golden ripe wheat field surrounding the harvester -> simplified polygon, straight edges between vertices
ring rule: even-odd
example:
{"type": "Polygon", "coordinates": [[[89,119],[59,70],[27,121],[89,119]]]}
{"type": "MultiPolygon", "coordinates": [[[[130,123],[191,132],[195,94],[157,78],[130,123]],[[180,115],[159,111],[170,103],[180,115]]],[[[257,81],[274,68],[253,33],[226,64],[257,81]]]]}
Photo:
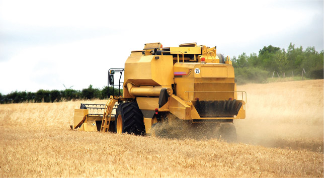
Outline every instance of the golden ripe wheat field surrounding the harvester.
{"type": "Polygon", "coordinates": [[[72,131],[79,103],[0,105],[0,177],[323,177],[323,80],[246,84],[237,143],[72,131]]]}

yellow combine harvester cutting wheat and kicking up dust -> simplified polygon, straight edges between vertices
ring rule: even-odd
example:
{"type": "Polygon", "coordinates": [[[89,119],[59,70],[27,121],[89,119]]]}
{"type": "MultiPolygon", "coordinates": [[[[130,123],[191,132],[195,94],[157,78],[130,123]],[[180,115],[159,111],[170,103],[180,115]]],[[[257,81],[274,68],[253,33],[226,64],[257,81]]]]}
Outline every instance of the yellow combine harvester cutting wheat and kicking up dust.
{"type": "Polygon", "coordinates": [[[236,92],[231,61],[217,54],[216,46],[145,44],[131,52],[124,69],[109,69],[108,77],[113,90],[123,88],[122,96],[111,96],[106,105],[82,104],[75,109],[72,129],[144,134],[173,115],[193,124],[226,125],[236,138],[233,119],[245,119],[246,93],[236,92]]]}

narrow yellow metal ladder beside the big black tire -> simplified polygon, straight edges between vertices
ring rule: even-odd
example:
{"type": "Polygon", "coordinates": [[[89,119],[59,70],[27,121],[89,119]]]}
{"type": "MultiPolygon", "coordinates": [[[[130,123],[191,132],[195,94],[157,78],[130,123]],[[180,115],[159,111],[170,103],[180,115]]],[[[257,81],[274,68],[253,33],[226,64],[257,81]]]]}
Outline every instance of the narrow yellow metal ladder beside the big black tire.
{"type": "Polygon", "coordinates": [[[117,100],[118,99],[115,99],[114,96],[110,96],[108,102],[106,103],[105,112],[101,123],[101,132],[108,132],[111,120],[111,113],[117,100]]]}

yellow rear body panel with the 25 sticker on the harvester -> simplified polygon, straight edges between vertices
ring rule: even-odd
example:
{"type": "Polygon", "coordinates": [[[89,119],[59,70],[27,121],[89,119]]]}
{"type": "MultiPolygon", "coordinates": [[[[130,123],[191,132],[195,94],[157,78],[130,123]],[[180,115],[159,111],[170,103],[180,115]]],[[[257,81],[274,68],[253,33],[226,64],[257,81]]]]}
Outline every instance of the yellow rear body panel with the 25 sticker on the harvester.
{"type": "Polygon", "coordinates": [[[183,100],[228,100],[233,93],[186,93],[187,91],[234,91],[234,70],[228,64],[176,63],[174,72],[185,75],[176,76],[177,96],[183,100]],[[196,72],[198,69],[199,72],[196,72]],[[186,71],[191,71],[187,72],[186,71]],[[193,78],[195,77],[195,78],[193,78]]]}

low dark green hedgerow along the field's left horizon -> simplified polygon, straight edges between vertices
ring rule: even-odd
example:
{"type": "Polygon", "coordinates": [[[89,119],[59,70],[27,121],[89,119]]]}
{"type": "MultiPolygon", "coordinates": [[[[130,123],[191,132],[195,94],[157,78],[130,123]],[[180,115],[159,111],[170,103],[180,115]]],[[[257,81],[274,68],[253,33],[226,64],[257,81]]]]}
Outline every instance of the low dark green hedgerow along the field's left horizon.
{"type": "MultiPolygon", "coordinates": [[[[121,91],[122,94],[122,91],[121,91]]],[[[11,92],[8,95],[2,95],[0,93],[0,104],[9,103],[53,103],[70,100],[92,100],[92,99],[107,99],[113,95],[112,86],[105,86],[100,90],[99,88],[93,88],[90,85],[88,88],[83,90],[73,90],[66,88],[63,91],[59,90],[38,90],[36,93],[33,92],[11,92]]],[[[118,89],[114,89],[114,95],[118,95],[118,89]]]]}

